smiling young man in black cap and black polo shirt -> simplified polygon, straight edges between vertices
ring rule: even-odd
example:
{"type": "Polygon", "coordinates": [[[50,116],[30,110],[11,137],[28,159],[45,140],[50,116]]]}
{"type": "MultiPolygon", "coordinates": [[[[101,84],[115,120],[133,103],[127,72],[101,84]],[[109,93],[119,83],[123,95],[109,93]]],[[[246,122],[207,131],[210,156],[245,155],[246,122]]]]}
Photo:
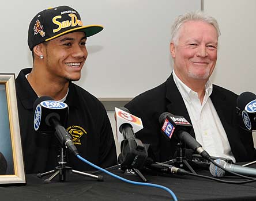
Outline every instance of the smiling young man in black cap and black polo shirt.
{"type": "MultiPolygon", "coordinates": [[[[33,68],[22,69],[16,79],[21,140],[27,173],[50,171],[58,166],[59,142],[33,129],[33,103],[50,96],[69,106],[65,125],[80,156],[106,168],[117,163],[114,137],[106,110],[95,96],[72,81],[80,79],[88,55],[86,39],[100,32],[99,25],[82,25],[80,15],[69,6],[36,14],[28,30],[33,68]]],[[[67,165],[91,169],[67,152],[67,165]]]]}

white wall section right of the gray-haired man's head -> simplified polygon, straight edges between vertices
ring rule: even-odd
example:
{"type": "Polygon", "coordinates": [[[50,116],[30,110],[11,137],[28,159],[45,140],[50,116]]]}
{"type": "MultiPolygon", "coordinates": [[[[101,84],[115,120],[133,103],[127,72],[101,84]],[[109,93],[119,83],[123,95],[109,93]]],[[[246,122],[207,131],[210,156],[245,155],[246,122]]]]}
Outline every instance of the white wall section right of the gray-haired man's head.
{"type": "Polygon", "coordinates": [[[237,94],[255,93],[256,1],[204,0],[204,11],[217,19],[221,31],[213,82],[237,94]]]}

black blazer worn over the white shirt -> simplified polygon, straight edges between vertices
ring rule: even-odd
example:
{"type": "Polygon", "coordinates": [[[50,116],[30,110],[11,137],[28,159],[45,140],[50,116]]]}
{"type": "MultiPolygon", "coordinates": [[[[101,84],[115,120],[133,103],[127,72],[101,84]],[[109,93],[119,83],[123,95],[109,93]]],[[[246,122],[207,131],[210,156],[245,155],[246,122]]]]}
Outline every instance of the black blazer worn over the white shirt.
{"type": "MultiPolygon", "coordinates": [[[[236,162],[251,161],[256,157],[251,132],[244,131],[238,126],[236,115],[236,98],[234,94],[225,88],[213,85],[210,99],[220,117],[224,130],[236,162]]],[[[170,141],[161,134],[159,117],[168,111],[174,115],[181,115],[191,123],[189,113],[180,95],[172,75],[166,82],[149,91],[146,91],[125,105],[131,114],[142,119],[144,129],[136,133],[136,136],[146,144],[150,144],[152,153],[149,153],[156,161],[167,161],[174,158],[178,141],[171,138],[170,141]]],[[[190,132],[195,137],[194,130],[190,132]]]]}

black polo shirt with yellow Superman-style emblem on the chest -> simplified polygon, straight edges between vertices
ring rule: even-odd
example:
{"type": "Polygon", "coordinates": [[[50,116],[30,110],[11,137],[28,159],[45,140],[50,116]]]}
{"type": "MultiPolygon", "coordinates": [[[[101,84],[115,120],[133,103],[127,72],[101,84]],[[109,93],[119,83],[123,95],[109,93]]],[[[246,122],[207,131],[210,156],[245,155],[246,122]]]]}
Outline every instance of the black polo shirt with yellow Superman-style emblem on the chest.
{"type": "MultiPolygon", "coordinates": [[[[33,103],[38,98],[25,75],[32,68],[22,69],[16,79],[16,93],[25,171],[42,173],[58,166],[59,142],[52,134],[33,129],[33,103]]],[[[80,156],[106,168],[117,163],[115,142],[110,121],[102,103],[92,94],[70,82],[65,103],[69,119],[65,125],[73,137],[80,156]]],[[[67,165],[78,171],[92,169],[67,150],[67,165]]]]}

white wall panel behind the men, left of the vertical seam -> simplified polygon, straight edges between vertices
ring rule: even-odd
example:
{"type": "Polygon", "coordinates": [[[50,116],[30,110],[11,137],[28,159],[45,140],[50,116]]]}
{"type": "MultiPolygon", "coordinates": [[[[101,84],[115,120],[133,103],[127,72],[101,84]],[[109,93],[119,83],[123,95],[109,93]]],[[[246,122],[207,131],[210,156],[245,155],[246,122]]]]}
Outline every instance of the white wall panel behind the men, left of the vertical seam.
{"type": "Polygon", "coordinates": [[[1,71],[17,75],[21,68],[31,66],[31,51],[27,45],[29,22],[43,9],[69,5],[80,13],[84,25],[104,26],[102,32],[86,41],[88,58],[78,84],[99,98],[131,98],[167,78],[170,25],[178,14],[199,10],[200,2],[5,1],[5,6],[0,6],[1,71]]]}

